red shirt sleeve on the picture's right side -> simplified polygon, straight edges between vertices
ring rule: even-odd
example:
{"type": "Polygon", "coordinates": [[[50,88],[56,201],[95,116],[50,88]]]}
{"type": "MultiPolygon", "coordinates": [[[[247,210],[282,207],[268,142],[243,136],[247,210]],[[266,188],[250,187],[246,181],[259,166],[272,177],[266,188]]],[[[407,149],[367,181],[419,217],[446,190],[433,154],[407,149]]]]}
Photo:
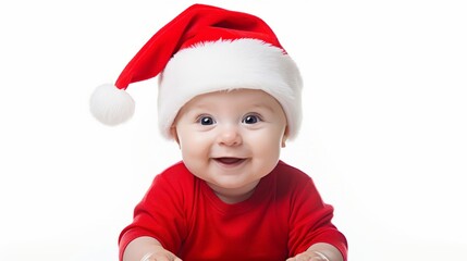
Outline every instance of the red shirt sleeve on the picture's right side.
{"type": "Polygon", "coordinates": [[[293,186],[288,240],[291,257],[306,251],[314,244],[328,243],[347,260],[346,238],[332,223],[333,207],[323,202],[310,177],[300,177],[293,186]]]}

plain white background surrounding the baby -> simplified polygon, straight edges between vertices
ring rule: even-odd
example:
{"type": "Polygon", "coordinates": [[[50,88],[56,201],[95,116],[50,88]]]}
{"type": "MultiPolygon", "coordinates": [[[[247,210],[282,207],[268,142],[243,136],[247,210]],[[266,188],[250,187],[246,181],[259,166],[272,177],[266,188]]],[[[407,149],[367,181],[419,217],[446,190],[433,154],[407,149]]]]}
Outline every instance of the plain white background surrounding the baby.
{"type": "MultiPolygon", "coordinates": [[[[302,69],[304,126],[282,159],[335,207],[349,260],[465,260],[465,1],[204,1],[259,15],[302,69]]],[[[193,1],[0,3],[0,260],[116,260],[153,175],[180,160],[156,79],[106,127],[116,79],[193,1]]],[[[208,246],[209,247],[209,246],[208,246]]]]}

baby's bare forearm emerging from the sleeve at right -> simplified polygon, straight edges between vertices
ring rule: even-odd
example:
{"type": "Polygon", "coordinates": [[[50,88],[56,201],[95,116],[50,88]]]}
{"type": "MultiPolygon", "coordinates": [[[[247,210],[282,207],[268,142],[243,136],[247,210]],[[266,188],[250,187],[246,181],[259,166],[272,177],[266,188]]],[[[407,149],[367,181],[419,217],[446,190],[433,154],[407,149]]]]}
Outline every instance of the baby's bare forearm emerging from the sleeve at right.
{"type": "Polygon", "coordinates": [[[317,243],[305,252],[287,259],[286,261],[343,261],[341,251],[327,243],[317,243]]]}

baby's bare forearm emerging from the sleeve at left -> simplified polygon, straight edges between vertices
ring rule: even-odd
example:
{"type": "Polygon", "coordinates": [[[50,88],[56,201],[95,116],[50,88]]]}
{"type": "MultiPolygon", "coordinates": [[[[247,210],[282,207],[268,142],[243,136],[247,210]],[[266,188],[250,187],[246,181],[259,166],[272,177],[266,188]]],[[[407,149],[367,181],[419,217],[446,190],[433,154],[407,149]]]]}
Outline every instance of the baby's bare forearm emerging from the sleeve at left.
{"type": "Polygon", "coordinates": [[[138,237],[126,246],[123,261],[182,261],[175,254],[165,250],[152,237],[138,237]]]}

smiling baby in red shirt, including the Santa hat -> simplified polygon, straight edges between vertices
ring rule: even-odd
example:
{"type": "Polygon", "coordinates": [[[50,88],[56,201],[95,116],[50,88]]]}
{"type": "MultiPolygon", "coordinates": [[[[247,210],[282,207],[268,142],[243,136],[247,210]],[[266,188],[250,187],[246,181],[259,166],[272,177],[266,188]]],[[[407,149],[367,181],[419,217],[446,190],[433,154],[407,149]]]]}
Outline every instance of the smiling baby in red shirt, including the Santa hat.
{"type": "Polygon", "coordinates": [[[194,4],[100,86],[91,112],[115,125],[124,91],[160,74],[159,126],[182,161],[157,175],[121,233],[120,260],[347,259],[333,208],[280,160],[302,120],[302,78],[271,28],[251,14],[194,4]]]}

